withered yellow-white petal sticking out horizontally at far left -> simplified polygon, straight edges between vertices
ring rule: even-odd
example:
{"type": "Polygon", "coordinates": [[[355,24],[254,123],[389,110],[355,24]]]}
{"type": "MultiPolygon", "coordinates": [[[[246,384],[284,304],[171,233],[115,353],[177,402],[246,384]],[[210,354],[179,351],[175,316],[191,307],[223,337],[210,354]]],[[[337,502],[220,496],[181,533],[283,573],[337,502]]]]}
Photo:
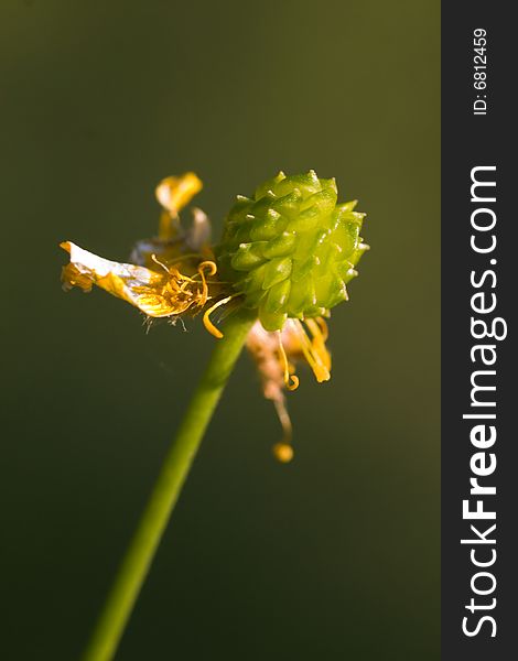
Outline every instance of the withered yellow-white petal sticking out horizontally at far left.
{"type": "MultiPolygon", "coordinates": [[[[71,241],[61,247],[71,254],[71,263],[62,273],[64,289],[79,286],[89,292],[95,284],[152,317],[182,314],[192,307],[203,307],[207,301],[204,279],[182,275],[174,267],[158,262],[161,271],[153,271],[104,259],[71,241]]],[[[201,266],[202,274],[206,264],[201,266]]]]}

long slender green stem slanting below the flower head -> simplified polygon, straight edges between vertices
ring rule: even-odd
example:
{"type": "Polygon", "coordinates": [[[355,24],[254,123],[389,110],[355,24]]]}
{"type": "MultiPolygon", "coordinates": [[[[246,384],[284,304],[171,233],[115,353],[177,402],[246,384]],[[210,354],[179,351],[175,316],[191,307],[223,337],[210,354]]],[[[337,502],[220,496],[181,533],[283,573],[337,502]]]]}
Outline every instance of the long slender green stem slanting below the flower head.
{"type": "Polygon", "coordinates": [[[112,659],[222,392],[253,317],[237,312],[225,325],[162,466],[149,502],[108,595],[83,661],[112,659]]]}

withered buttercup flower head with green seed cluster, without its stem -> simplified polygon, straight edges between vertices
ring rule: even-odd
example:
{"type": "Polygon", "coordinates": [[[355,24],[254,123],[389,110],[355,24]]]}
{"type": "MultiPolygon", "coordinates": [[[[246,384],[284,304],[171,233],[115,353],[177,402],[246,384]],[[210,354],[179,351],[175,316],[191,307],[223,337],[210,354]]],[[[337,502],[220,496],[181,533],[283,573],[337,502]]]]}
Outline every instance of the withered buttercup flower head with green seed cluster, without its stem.
{"type": "Polygon", "coordinates": [[[324,317],[347,300],[346,284],[368,249],[359,236],[365,215],[354,210],[356,202],[337,204],[334,180],[321,180],[313,171],[294,176],[281,172],[252,197],[237,197],[220,242],[212,246],[211,224],[201,209],[193,209],[187,229],[179,216],[201,188],[193,173],[159,184],[159,234],[137,242],[133,263],[97,257],[71,241],[61,243],[71,258],[63,286],[89,292],[97,285],[147,317],[173,323],[202,314],[217,338],[223,334],[212,315],[218,308],[228,314],[237,306],[257,311],[247,347],[284,432],[274,454],[289,462],[293,451],[284,390],[298,387],[300,360],[310,365],[319,382],[331,378],[324,317]]]}

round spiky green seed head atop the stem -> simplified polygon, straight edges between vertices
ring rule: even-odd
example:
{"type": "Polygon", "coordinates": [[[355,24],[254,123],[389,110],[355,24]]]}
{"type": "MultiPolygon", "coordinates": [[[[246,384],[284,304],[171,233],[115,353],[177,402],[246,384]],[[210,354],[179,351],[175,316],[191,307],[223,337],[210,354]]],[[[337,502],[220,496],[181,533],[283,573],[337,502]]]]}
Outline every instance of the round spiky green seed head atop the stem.
{"type": "Polygon", "coordinates": [[[219,272],[258,308],[267,330],[288,317],[325,315],[347,299],[346,283],[367,249],[356,202],[336,204],[336,182],[280,172],[253,197],[238,196],[218,247],[219,272]]]}

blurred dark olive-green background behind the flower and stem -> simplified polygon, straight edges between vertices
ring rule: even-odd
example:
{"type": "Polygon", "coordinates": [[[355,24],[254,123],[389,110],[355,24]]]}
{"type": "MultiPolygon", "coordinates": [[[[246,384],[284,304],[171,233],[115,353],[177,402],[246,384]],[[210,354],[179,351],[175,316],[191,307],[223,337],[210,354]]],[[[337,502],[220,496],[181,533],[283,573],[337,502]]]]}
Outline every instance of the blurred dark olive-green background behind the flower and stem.
{"type": "Polygon", "coordinates": [[[117,659],[439,659],[439,0],[3,1],[0,657],[77,659],[214,343],[102,292],[57,243],[126,259],[194,170],[216,234],[279,169],[336,176],[371,251],[333,379],[242,357],[117,659]]]}

